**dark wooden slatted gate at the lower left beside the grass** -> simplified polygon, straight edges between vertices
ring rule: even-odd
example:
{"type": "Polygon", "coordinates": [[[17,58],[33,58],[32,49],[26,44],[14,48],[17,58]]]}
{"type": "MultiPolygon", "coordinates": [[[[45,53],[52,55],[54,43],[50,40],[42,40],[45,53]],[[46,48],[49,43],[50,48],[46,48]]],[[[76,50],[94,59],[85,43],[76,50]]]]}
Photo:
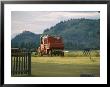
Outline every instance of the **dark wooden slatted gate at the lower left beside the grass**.
{"type": "Polygon", "coordinates": [[[31,75],[31,53],[20,49],[11,50],[11,75],[31,75]]]}

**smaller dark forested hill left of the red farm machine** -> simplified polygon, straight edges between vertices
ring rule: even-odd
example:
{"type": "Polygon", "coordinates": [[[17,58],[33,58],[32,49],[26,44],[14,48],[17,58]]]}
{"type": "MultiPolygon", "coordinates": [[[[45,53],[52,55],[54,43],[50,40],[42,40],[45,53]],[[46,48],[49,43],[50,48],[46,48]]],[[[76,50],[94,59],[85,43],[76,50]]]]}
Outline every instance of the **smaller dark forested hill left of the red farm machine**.
{"type": "Polygon", "coordinates": [[[37,48],[40,41],[40,34],[34,34],[30,31],[23,31],[11,40],[11,46],[15,48],[37,48]]]}

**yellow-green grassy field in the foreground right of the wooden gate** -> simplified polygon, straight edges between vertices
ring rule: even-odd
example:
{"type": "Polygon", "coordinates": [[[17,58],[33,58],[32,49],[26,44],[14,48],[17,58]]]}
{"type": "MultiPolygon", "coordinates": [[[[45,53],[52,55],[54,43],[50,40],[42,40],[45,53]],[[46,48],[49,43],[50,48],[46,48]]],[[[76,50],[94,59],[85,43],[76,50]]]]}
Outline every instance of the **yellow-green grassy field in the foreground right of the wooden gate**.
{"type": "Polygon", "coordinates": [[[100,57],[32,57],[32,76],[80,77],[80,74],[100,76],[100,57]]]}

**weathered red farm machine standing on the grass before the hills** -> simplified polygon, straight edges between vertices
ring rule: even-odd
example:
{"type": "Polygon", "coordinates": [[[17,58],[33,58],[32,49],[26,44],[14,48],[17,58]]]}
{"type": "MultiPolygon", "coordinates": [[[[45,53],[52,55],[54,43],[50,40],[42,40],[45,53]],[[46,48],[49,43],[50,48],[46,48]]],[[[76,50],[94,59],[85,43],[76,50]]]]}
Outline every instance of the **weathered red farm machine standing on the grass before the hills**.
{"type": "Polygon", "coordinates": [[[40,56],[64,56],[64,43],[62,37],[50,35],[41,36],[38,54],[40,56]]]}

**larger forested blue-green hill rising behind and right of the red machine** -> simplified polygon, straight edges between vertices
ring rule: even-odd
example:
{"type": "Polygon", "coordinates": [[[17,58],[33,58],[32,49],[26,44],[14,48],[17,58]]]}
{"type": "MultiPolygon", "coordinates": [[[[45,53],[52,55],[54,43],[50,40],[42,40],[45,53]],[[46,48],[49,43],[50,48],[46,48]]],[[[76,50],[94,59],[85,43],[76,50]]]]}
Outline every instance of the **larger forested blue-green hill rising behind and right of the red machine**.
{"type": "Polygon", "coordinates": [[[43,34],[64,39],[65,49],[100,49],[100,19],[71,19],[46,29],[43,34]]]}

